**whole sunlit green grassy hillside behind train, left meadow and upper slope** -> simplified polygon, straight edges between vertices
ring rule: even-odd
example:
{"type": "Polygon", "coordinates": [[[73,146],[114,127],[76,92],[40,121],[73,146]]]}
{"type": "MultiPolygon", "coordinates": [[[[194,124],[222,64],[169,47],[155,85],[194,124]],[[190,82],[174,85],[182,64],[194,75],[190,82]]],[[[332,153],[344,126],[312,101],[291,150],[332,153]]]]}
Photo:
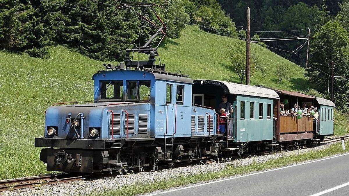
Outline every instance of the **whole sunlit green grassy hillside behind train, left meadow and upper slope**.
{"type": "MultiPolygon", "coordinates": [[[[194,79],[238,82],[224,59],[228,46],[235,42],[242,41],[188,27],[180,39],[166,40],[159,53],[168,71],[181,70],[194,79]]],[[[304,69],[258,45],[252,44],[252,50],[268,65],[265,76],[257,73],[251,78],[252,85],[306,89],[304,69]],[[273,69],[279,62],[292,67],[289,81],[276,82],[273,69]]],[[[36,59],[0,52],[0,179],[47,173],[39,161],[40,149],[34,148],[34,138],[44,132],[46,108],[61,101],[93,99],[91,76],[103,62],[62,46],[52,47],[50,53],[50,59],[36,59]]]]}

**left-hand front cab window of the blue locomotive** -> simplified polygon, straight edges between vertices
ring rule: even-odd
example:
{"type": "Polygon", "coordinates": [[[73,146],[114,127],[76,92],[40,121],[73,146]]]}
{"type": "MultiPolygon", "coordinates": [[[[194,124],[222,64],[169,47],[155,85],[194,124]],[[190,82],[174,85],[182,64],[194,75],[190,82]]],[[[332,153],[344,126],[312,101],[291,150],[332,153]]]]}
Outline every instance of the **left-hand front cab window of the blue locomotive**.
{"type": "Polygon", "coordinates": [[[100,99],[122,100],[123,87],[122,80],[101,81],[100,99]]]}

